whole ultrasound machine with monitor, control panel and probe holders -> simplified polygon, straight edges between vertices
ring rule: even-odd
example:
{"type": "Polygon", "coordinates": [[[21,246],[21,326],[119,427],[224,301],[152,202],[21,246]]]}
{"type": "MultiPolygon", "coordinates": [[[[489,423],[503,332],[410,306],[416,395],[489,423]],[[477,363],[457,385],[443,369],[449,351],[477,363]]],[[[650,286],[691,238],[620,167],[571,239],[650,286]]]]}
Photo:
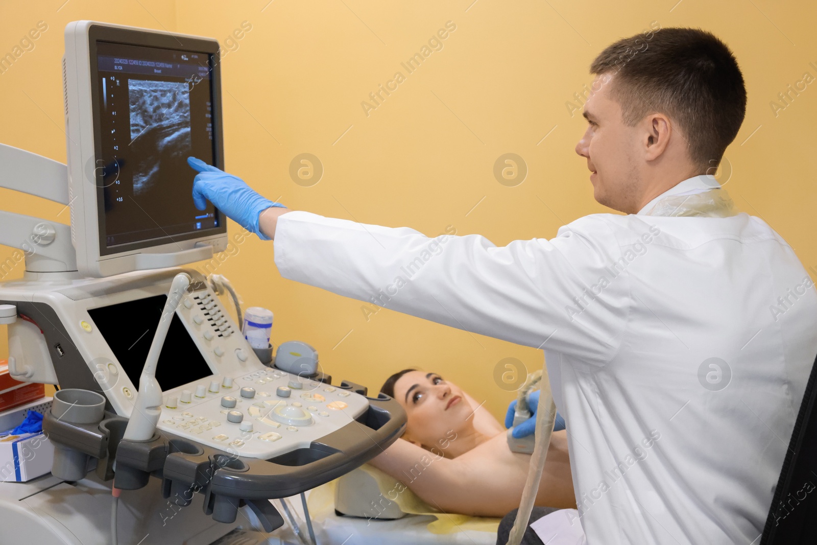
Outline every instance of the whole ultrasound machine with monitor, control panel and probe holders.
{"type": "Polygon", "coordinates": [[[67,167],[0,145],[0,186],[70,210],[70,227],[0,211],[0,243],[25,260],[0,284],[9,372],[59,388],[33,407],[51,473],[0,481],[0,543],[273,543],[292,520],[271,500],[404,429],[394,400],[333,382],[306,343],[250,346],[212,279],[185,268],[228,244],[185,162],[225,166],[219,58],[210,38],[70,23],[67,167]]]}

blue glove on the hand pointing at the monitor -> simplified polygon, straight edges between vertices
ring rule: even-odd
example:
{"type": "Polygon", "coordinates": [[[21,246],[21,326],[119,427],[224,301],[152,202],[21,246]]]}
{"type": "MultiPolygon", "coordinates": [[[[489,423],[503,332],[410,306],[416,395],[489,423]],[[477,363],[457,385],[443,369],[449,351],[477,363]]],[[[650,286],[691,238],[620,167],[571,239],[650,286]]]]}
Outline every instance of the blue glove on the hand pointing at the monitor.
{"type": "Polygon", "coordinates": [[[199,172],[193,179],[193,203],[203,210],[207,201],[224,212],[227,217],[247,230],[258,235],[261,240],[269,240],[258,227],[258,214],[270,207],[286,208],[257,194],[238,176],[204,163],[201,159],[187,158],[187,164],[199,172]]]}

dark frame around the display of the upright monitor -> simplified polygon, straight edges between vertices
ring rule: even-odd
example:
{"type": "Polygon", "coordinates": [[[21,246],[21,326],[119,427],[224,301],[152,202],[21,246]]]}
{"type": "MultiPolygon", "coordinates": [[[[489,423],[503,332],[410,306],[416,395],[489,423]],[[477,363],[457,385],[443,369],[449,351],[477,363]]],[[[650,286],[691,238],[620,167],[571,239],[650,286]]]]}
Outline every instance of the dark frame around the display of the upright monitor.
{"type": "MultiPolygon", "coordinates": [[[[170,51],[193,52],[208,56],[210,65],[210,92],[212,96],[212,134],[213,134],[213,159],[217,168],[224,168],[224,141],[221,116],[221,62],[219,61],[218,43],[212,40],[191,38],[174,34],[160,34],[149,30],[131,30],[114,28],[111,26],[91,25],[88,28],[88,60],[90,63],[89,75],[91,83],[91,105],[93,118],[93,153],[94,158],[102,156],[102,139],[100,123],[100,92],[95,84],[98,78],[97,43],[109,42],[122,45],[132,45],[141,47],[153,47],[170,51]]],[[[115,256],[123,252],[154,248],[167,243],[175,243],[190,239],[211,238],[217,235],[226,235],[227,226],[224,214],[217,210],[220,218],[220,225],[204,230],[191,230],[180,235],[167,235],[153,239],[145,239],[132,243],[116,244],[109,247],[105,237],[105,187],[101,180],[102,174],[94,171],[96,176],[96,234],[97,249],[100,258],[115,256]]],[[[190,176],[194,172],[190,171],[190,176]]],[[[192,199],[192,196],[191,196],[192,199]]],[[[92,215],[93,217],[93,215],[92,215]]]]}

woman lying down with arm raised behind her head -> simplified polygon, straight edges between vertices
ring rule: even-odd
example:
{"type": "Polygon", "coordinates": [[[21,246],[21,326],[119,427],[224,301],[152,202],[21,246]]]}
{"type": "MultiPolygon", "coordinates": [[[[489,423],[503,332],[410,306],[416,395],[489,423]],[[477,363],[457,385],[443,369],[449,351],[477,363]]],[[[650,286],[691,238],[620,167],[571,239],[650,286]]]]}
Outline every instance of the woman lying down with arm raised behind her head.
{"type": "MultiPolygon", "coordinates": [[[[404,436],[371,463],[431,507],[504,516],[519,507],[529,454],[513,453],[507,431],[453,382],[405,369],[383,384],[408,414],[404,436]]],[[[536,505],[576,507],[566,431],[554,431],[536,505]]]]}

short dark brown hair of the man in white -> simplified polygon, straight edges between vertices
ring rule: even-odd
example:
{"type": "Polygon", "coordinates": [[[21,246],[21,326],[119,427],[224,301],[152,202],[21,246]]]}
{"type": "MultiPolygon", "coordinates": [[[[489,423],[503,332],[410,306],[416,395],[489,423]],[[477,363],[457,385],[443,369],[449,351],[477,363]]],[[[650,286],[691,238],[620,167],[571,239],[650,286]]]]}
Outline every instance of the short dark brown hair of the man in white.
{"type": "Polygon", "coordinates": [[[738,61],[724,42],[702,29],[659,27],[620,39],[596,56],[590,72],[614,75],[610,96],[621,105],[627,125],[653,113],[675,121],[690,159],[702,170],[712,168],[709,173],[746,114],[738,61]]]}

